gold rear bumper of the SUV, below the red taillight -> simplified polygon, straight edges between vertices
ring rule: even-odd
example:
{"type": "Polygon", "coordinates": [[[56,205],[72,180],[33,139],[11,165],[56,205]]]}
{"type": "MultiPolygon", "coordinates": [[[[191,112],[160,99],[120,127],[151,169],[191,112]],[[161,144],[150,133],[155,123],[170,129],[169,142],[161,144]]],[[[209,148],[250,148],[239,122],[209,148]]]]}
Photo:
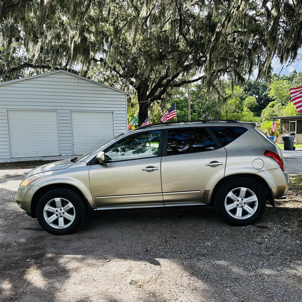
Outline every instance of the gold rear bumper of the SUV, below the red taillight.
{"type": "Polygon", "coordinates": [[[274,199],[284,196],[289,189],[290,179],[288,172],[283,172],[281,168],[269,169],[256,174],[265,179],[271,188],[274,199]]]}

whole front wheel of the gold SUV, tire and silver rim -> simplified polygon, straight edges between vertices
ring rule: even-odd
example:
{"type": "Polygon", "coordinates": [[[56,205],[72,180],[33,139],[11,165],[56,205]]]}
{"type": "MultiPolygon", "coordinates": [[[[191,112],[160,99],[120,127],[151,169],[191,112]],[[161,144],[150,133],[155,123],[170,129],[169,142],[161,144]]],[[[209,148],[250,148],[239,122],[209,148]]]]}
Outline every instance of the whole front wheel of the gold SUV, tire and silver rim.
{"type": "Polygon", "coordinates": [[[85,219],[85,207],[79,194],[70,189],[54,189],[42,196],[37,204],[37,220],[53,235],[74,232],[85,219]]]}

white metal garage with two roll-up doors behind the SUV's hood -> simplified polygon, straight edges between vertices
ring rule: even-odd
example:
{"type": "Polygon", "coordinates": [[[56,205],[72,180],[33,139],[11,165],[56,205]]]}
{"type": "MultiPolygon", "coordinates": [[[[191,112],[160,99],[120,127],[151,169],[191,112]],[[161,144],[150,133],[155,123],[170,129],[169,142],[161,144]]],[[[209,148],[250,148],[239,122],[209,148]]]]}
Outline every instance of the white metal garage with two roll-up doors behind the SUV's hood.
{"type": "Polygon", "coordinates": [[[64,70],[0,83],[0,158],[84,154],[127,130],[128,95],[64,70]]]}

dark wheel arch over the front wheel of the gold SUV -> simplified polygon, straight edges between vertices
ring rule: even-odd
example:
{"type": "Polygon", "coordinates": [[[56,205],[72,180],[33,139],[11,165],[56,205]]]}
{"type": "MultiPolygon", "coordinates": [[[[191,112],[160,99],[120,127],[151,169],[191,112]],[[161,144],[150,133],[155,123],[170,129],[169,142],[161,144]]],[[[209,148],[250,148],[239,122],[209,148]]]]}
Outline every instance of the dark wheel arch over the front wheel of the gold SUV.
{"type": "Polygon", "coordinates": [[[51,184],[51,185],[45,185],[45,186],[39,188],[35,192],[35,194],[33,195],[32,199],[31,199],[31,217],[32,218],[37,218],[36,209],[37,209],[37,204],[38,204],[40,198],[44,194],[46,194],[48,191],[53,190],[53,189],[58,189],[58,188],[70,189],[70,190],[78,193],[83,199],[83,203],[84,203],[86,212],[89,213],[89,215],[92,214],[91,205],[89,204],[89,202],[88,202],[87,198],[85,197],[85,195],[83,194],[83,192],[78,187],[76,187],[74,185],[66,184],[66,183],[56,183],[56,184],[51,184]]]}

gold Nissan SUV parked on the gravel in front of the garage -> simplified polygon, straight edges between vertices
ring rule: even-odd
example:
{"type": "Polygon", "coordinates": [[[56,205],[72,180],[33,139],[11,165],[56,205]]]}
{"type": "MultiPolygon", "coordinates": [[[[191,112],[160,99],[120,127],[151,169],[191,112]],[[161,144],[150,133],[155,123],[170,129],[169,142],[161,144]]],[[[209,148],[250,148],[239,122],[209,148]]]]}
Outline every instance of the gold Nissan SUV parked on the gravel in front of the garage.
{"type": "Polygon", "coordinates": [[[37,167],[16,201],[44,230],[63,235],[86,214],[125,208],[215,206],[227,223],[248,225],[288,188],[279,147],[255,123],[204,120],[140,127],[37,167]]]}

